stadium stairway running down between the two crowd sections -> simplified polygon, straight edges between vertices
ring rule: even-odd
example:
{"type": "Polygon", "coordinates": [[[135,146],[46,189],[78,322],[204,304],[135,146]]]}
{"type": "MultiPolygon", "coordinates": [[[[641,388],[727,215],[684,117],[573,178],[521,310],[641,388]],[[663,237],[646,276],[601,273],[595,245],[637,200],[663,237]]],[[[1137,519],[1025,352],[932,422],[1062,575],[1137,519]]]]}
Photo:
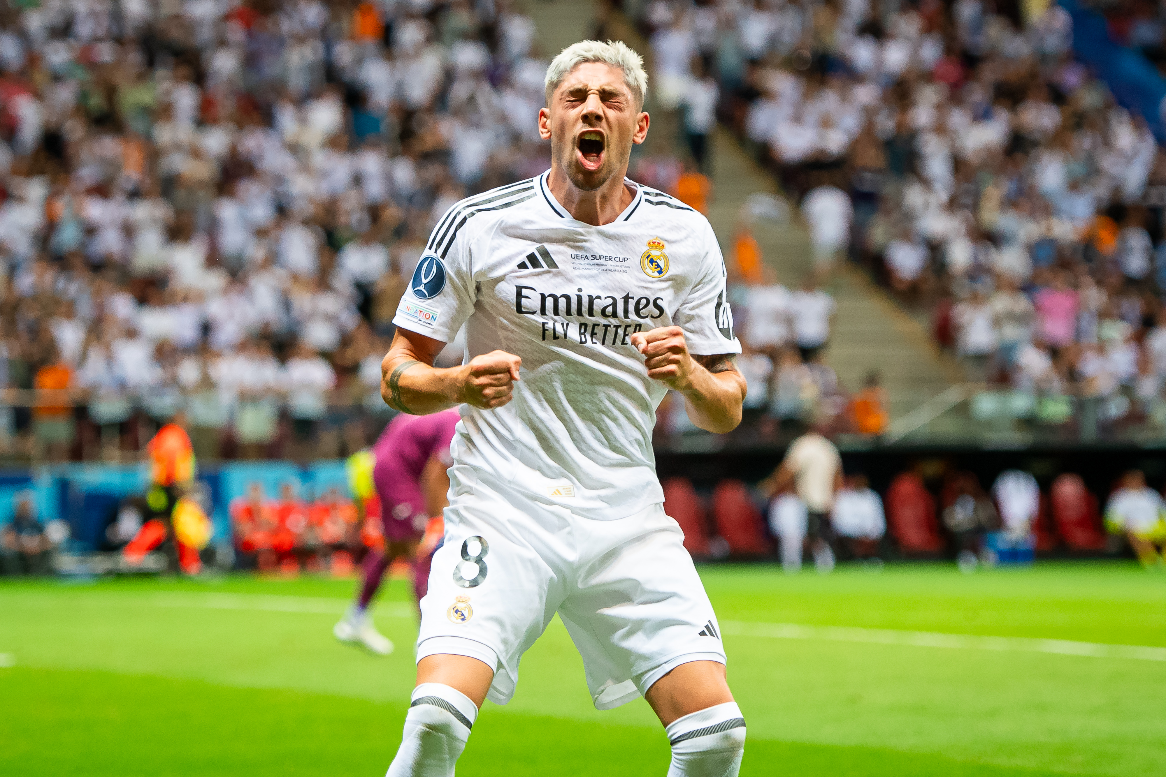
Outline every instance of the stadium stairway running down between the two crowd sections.
{"type": "MultiPolygon", "coordinates": [[[[595,34],[599,27],[597,13],[604,6],[577,0],[529,3],[528,13],[539,29],[538,38],[545,55],[553,57],[575,41],[595,34]]],[[[647,43],[635,27],[618,12],[605,7],[603,12],[606,14],[603,35],[625,41],[649,59],[647,43]]],[[[672,151],[677,144],[675,139],[680,137],[676,118],[653,111],[651,89],[645,107],[652,113],[652,129],[644,151],[649,155],[672,151]]],[[[714,142],[709,220],[726,257],[731,255],[742,209],[756,192],[777,195],[777,182],[749,157],[728,130],[718,129],[714,142]]],[[[795,289],[809,274],[813,260],[809,235],[798,217],[798,203],[788,205],[788,220],[758,221],[753,235],[764,260],[777,269],[780,282],[795,289]]],[[[849,264],[840,267],[824,288],[834,295],[838,306],[827,362],[851,391],[862,388],[871,369],[878,369],[891,400],[892,425],[894,419],[963,380],[958,363],[933,342],[927,322],[902,310],[861,269],[849,264]]]]}

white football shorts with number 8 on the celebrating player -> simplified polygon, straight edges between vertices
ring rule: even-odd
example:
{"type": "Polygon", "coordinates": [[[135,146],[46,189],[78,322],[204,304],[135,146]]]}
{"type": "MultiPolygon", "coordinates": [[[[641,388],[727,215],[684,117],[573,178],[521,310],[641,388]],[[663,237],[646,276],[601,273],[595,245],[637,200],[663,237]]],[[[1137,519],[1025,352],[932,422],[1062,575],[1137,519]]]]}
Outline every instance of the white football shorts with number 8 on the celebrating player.
{"type": "Polygon", "coordinates": [[[506,704],[522,654],[559,613],[599,709],[641,695],[680,664],[725,663],[712,605],[662,504],[596,521],[464,465],[450,478],[445,543],[421,600],[417,661],[483,661],[494,667],[486,698],[506,704]]]}

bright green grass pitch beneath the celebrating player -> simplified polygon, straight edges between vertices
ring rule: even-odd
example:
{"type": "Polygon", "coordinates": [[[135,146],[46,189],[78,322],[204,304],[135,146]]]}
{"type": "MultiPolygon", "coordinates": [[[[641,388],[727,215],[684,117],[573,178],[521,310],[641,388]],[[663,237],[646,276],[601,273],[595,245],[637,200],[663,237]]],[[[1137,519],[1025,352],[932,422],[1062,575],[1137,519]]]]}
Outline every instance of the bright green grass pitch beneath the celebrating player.
{"type": "MultiPolygon", "coordinates": [[[[702,575],[749,721],[743,775],[1166,774],[1166,574],[1049,564],[702,575]],[[912,644],[912,631],[967,636],[912,644]]],[[[0,582],[0,774],[384,775],[415,622],[394,580],[377,622],[398,651],[338,644],[331,627],[353,585],[0,582]]],[[[463,777],[667,770],[642,699],[591,707],[557,621],[525,657],[514,700],[487,702],[478,721],[463,777]]]]}

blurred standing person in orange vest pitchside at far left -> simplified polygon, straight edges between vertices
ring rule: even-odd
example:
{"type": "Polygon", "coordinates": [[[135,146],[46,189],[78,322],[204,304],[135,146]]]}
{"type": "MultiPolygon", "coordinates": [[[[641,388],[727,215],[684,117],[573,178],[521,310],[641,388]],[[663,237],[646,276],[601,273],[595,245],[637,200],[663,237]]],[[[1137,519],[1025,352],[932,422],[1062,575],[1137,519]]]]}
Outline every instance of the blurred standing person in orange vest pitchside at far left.
{"type": "Polygon", "coordinates": [[[199,551],[210,542],[211,524],[198,502],[189,496],[196,462],[184,426],[185,414],[178,411],[146,444],[150,473],[146,508],[152,517],[121,551],[131,565],[141,564],[147,553],[173,537],[178,568],[185,574],[202,571],[199,551]]]}

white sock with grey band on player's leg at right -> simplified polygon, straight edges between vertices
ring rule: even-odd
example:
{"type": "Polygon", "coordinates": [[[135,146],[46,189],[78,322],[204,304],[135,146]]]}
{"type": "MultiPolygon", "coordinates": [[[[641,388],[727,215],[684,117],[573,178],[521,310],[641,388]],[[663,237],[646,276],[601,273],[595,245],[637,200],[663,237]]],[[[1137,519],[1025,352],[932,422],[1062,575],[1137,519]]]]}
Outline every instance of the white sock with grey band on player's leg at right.
{"type": "Polygon", "coordinates": [[[674,720],[668,728],[668,777],[737,777],[745,753],[745,719],[735,701],[674,720]]]}

